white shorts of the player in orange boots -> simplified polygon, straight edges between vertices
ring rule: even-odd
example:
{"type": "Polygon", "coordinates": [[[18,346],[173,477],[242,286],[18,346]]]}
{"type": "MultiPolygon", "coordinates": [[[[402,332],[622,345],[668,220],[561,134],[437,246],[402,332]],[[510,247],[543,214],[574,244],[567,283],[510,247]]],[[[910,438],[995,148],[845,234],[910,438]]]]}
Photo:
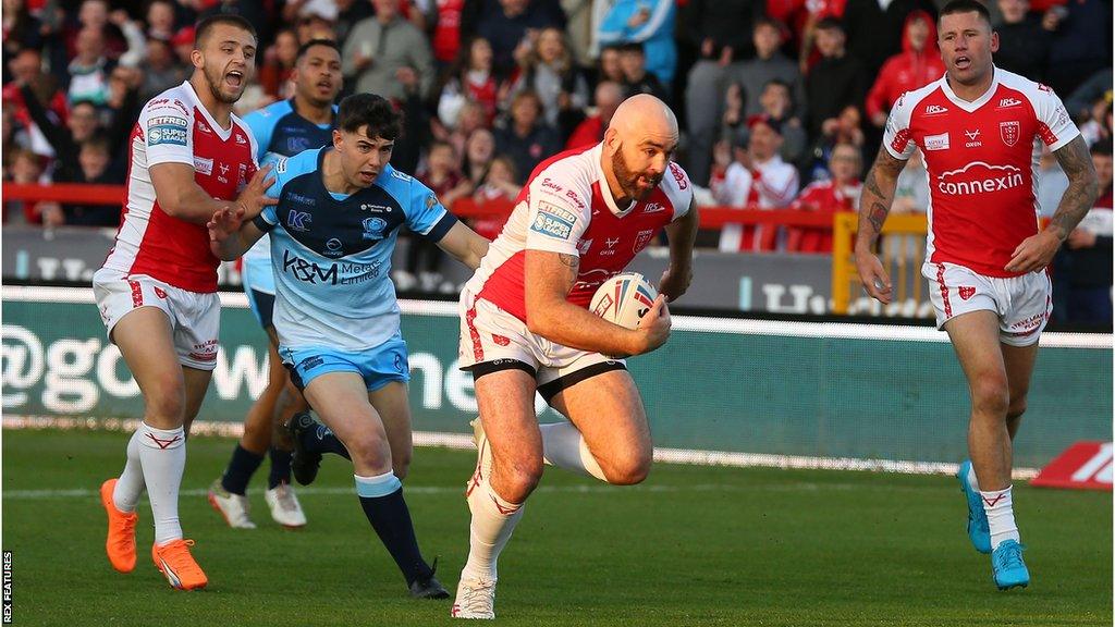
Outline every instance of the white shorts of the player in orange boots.
{"type": "Polygon", "coordinates": [[[155,307],[171,320],[178,363],[198,370],[216,367],[221,299],[216,293],[187,291],[146,274],[120,277],[101,268],[93,276],[93,293],[100,319],[113,339],[113,328],[140,307],[155,307]]]}

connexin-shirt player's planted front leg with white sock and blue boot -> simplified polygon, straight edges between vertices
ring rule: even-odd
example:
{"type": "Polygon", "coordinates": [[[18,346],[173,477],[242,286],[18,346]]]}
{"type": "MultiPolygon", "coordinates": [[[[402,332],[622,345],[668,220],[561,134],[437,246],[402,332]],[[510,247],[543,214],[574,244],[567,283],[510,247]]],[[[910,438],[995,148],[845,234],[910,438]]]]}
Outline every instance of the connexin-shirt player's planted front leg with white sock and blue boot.
{"type": "MultiPolygon", "coordinates": [[[[979,310],[957,316],[946,322],[944,330],[952,340],[971,394],[968,448],[988,521],[992,575],[1000,589],[1026,586],[1029,572],[1021,560],[1010,490],[1012,454],[1008,412],[1011,386],[1005,357],[1010,355],[1012,366],[1025,370],[1027,386],[1034,357],[1001,348],[999,319],[993,311],[979,310]]],[[[1025,408],[1025,390],[1021,392],[1020,405],[1016,409],[1025,408]]]]}

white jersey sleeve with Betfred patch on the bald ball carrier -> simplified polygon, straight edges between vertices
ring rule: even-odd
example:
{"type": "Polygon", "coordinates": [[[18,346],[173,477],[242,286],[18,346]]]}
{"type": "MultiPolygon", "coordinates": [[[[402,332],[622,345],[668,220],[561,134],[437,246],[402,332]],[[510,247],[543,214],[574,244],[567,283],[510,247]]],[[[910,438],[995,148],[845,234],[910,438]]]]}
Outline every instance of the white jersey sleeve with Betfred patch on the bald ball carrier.
{"type": "Polygon", "coordinates": [[[563,176],[560,166],[540,172],[526,193],[525,248],[580,257],[576,244],[592,220],[591,199],[591,187],[576,175],[563,176]]]}

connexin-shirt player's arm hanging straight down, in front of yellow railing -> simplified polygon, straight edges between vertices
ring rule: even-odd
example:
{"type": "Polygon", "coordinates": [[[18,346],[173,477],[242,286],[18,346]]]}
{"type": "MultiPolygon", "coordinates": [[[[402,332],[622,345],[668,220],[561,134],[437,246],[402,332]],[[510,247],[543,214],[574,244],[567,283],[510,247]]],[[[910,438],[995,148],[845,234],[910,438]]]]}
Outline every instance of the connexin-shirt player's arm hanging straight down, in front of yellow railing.
{"type": "Polygon", "coordinates": [[[905,167],[905,162],[895,158],[886,146],[879,148],[879,156],[863,181],[863,193],[860,195],[860,229],[855,235],[855,267],[860,271],[860,280],[872,298],[889,303],[894,297],[891,291],[891,279],[875,255],[875,242],[886,222],[886,214],[894,202],[894,190],[898,187],[899,174],[905,167]]]}

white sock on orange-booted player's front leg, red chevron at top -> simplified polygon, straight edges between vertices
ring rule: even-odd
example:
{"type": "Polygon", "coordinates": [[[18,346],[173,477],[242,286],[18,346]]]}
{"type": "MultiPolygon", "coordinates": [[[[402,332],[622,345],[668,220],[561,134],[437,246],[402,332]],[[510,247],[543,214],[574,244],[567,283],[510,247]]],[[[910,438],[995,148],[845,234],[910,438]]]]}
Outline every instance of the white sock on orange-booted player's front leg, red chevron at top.
{"type": "Polygon", "coordinates": [[[178,488],[186,467],[186,434],[182,427],[164,431],[146,423],[139,427],[139,460],[155,519],[155,543],[182,539],[178,488]]]}

